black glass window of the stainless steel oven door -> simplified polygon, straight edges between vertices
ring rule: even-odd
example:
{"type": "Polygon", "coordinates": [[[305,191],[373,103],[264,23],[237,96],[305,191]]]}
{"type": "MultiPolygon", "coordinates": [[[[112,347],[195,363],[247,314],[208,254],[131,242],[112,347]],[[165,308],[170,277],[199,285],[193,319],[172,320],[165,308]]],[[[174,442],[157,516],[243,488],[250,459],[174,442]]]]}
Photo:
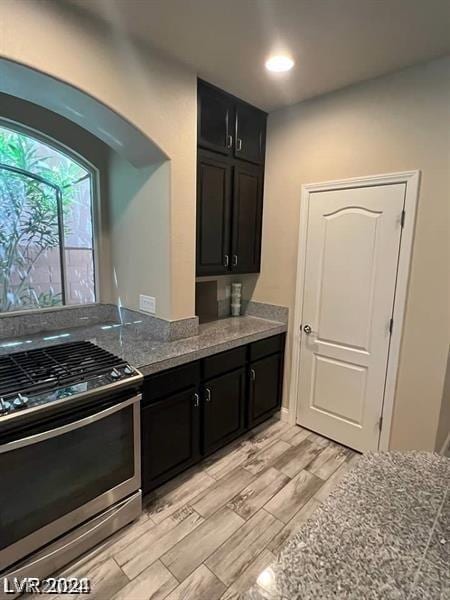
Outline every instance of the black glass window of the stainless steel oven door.
{"type": "MultiPolygon", "coordinates": [[[[63,435],[0,453],[0,473],[0,549],[4,549],[134,476],[133,406],[63,435]]],[[[86,513],[86,519],[91,516],[86,513]]]]}

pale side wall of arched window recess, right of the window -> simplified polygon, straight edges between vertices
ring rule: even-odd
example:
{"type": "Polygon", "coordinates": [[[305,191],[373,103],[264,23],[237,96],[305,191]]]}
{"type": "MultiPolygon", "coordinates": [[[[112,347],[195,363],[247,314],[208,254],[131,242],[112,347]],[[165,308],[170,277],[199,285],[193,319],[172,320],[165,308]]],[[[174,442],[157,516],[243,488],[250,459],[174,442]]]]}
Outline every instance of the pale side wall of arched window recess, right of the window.
{"type": "Polygon", "coordinates": [[[154,296],[164,319],[171,318],[169,180],[169,162],[136,169],[111,152],[111,301],[138,309],[139,293],[154,296]]]}

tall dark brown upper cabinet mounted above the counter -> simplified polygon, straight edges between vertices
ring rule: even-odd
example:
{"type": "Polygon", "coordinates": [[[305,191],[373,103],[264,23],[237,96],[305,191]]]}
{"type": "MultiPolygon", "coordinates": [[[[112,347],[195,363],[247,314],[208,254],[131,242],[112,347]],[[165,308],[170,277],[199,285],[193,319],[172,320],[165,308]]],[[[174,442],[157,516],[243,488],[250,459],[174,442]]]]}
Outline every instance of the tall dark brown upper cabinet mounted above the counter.
{"type": "Polygon", "coordinates": [[[198,82],[197,275],[258,273],[266,118],[198,82]]]}

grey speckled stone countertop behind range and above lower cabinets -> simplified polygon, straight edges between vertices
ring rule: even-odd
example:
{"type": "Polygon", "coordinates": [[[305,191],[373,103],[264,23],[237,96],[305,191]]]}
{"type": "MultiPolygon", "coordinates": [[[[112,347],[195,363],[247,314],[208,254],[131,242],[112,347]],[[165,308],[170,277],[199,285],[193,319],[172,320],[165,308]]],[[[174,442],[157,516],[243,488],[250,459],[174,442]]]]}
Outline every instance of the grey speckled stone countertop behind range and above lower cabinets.
{"type": "Polygon", "coordinates": [[[0,354],[75,340],[89,340],[120,356],[144,375],[223,352],[286,331],[286,324],[256,317],[234,317],[205,323],[199,335],[161,342],[151,339],[138,322],[105,323],[12,340],[0,340],[0,354]]]}

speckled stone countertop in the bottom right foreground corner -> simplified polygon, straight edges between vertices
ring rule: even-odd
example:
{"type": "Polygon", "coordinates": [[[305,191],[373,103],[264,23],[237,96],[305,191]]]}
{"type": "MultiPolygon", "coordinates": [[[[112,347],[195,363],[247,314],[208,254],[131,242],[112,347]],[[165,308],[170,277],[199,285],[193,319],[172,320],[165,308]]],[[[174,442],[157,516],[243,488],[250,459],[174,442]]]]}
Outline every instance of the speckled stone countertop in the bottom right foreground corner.
{"type": "Polygon", "coordinates": [[[363,456],[245,600],[450,599],[450,459],[363,456]]]}

